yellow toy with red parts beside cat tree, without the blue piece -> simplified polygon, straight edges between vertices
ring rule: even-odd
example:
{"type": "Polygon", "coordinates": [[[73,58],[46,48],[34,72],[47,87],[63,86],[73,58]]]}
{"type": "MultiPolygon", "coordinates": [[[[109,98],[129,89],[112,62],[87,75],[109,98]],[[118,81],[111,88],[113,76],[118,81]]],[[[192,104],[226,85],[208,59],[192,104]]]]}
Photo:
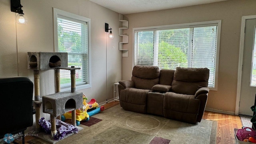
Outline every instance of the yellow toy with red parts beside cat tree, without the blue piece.
{"type": "MultiPolygon", "coordinates": [[[[90,102],[86,103],[87,98],[83,95],[83,107],[76,110],[76,125],[80,124],[80,121],[85,120],[86,122],[90,119],[89,114],[87,114],[87,110],[91,108],[96,108],[99,104],[93,98],[90,102]]],[[[72,119],[72,114],[70,112],[66,112],[61,116],[61,120],[65,121],[66,119],[72,119]]]]}

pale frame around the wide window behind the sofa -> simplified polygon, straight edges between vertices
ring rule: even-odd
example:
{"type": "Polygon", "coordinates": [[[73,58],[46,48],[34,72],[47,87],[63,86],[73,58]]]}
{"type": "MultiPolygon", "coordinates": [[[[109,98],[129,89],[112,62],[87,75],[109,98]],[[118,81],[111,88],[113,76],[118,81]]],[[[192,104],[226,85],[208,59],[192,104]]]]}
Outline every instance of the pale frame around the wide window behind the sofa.
{"type": "Polygon", "coordinates": [[[220,32],[221,32],[221,20],[212,20],[205,22],[192,22],[184,24],[171,24],[171,25],[162,25],[162,26],[148,26],[148,27],[138,27],[132,29],[132,67],[135,66],[135,32],[136,31],[154,31],[154,30],[168,30],[168,29],[178,29],[178,28],[196,28],[203,26],[212,26],[217,24],[217,42],[216,42],[216,65],[215,65],[215,83],[214,87],[208,87],[210,90],[217,91],[218,89],[218,66],[219,66],[219,53],[220,53],[220,32]]]}

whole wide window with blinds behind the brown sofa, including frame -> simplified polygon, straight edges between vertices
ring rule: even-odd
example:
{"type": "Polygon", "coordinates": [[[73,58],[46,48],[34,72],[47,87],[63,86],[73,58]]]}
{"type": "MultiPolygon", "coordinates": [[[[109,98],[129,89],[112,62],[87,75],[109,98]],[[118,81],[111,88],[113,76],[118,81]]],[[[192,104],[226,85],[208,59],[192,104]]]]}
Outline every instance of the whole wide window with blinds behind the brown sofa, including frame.
{"type": "Polygon", "coordinates": [[[134,28],[134,64],[208,68],[208,87],[217,89],[220,22],[134,28]]]}

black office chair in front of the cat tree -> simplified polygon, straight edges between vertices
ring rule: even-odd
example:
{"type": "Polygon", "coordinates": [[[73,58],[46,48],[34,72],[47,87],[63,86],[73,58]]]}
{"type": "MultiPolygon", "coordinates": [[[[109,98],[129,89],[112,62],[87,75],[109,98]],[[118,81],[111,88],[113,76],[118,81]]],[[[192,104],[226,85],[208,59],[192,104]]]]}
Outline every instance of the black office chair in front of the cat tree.
{"type": "Polygon", "coordinates": [[[0,139],[33,125],[33,83],[28,77],[0,78],[0,139]]]}

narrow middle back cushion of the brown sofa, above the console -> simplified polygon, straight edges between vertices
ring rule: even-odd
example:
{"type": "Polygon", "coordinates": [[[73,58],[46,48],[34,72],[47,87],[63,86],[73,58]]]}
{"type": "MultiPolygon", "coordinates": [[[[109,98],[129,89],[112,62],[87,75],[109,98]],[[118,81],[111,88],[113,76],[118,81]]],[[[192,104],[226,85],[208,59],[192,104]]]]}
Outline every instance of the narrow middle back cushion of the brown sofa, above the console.
{"type": "Polygon", "coordinates": [[[172,85],[172,80],[175,70],[162,69],[160,70],[159,84],[172,85]]]}

